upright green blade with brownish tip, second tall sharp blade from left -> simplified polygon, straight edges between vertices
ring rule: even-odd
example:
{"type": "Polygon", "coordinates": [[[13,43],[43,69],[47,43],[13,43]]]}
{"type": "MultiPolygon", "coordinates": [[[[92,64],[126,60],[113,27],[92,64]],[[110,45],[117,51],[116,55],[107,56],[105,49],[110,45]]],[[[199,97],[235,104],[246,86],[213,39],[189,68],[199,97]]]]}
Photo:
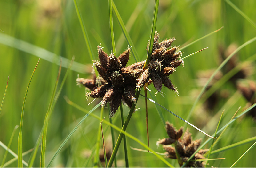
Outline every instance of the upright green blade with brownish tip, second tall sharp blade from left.
{"type": "Polygon", "coordinates": [[[48,110],[46,112],[45,118],[44,118],[44,126],[43,126],[43,135],[42,135],[42,145],[41,145],[41,155],[40,155],[40,167],[44,168],[45,167],[45,150],[46,150],[46,135],[47,135],[47,127],[48,127],[48,121],[49,121],[49,113],[50,113],[50,109],[52,107],[52,102],[54,99],[54,95],[56,93],[56,89],[58,86],[58,82],[59,82],[59,78],[60,78],[60,73],[61,73],[61,61],[60,61],[60,67],[59,67],[59,72],[57,75],[57,79],[53,88],[53,92],[52,92],[52,97],[50,99],[50,103],[48,106],[48,110]]]}

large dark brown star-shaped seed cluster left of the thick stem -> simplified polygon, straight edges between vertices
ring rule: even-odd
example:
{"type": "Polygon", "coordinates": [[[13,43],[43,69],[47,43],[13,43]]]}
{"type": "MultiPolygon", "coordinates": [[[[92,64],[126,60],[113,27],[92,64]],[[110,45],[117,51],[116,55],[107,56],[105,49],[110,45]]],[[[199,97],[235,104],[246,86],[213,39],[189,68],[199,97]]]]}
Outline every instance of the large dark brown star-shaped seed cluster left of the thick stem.
{"type": "Polygon", "coordinates": [[[86,96],[93,98],[103,97],[102,104],[110,103],[110,117],[114,116],[122,99],[131,108],[132,103],[136,101],[135,86],[138,83],[138,77],[142,73],[142,67],[145,62],[138,62],[125,67],[129,60],[130,48],[124,51],[118,58],[113,54],[108,56],[98,46],[98,55],[100,61],[94,61],[94,66],[104,79],[104,84],[97,87],[86,96]]]}

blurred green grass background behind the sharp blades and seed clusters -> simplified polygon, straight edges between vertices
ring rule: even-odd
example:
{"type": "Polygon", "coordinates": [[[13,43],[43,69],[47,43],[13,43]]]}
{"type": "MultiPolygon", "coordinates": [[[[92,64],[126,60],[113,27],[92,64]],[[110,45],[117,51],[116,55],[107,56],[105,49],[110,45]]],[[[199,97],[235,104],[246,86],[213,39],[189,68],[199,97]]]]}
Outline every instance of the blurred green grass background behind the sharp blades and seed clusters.
{"type": "MultiPolygon", "coordinates": [[[[114,2],[124,23],[127,23],[126,28],[134,43],[132,48],[136,49],[140,60],[145,60],[154,1],[118,0],[114,2]]],[[[255,21],[255,1],[232,0],[232,2],[249,18],[255,21]]],[[[89,35],[94,57],[97,59],[96,46],[100,45],[100,43],[104,47],[105,52],[109,54],[112,46],[108,19],[108,1],[84,0],[78,1],[78,6],[89,35]]],[[[76,62],[84,64],[84,69],[81,72],[71,71],[69,73],[60,99],[50,117],[46,143],[47,163],[62,140],[70,133],[81,117],[84,116],[83,112],[68,105],[63,96],[68,96],[71,101],[83,106],[87,110],[91,110],[99,102],[99,100],[96,100],[87,106],[92,99],[86,101],[84,87],[79,88],[76,86],[77,74],[80,74],[80,77],[83,78],[92,78],[90,74],[92,71],[92,62],[88,55],[74,4],[71,0],[0,1],[0,16],[0,39],[2,41],[4,35],[10,35],[69,60],[74,55],[76,62]]],[[[127,48],[128,44],[115,15],[113,15],[113,21],[116,54],[119,55],[127,48]]],[[[235,46],[233,49],[236,49],[244,42],[255,37],[255,28],[223,0],[160,0],[156,30],[159,32],[160,39],[162,40],[174,36],[176,38],[174,45],[176,46],[185,46],[222,26],[224,28],[219,32],[182,49],[184,51],[182,56],[185,57],[200,49],[209,47],[207,50],[184,60],[185,67],[179,67],[177,72],[170,76],[173,84],[178,88],[179,96],[167,88],[163,88],[164,97],[160,94],[156,95],[158,103],[182,118],[187,117],[196,96],[206,82],[204,78],[211,75],[207,73],[211,73],[212,69],[214,70],[220,65],[221,53],[223,55],[225,55],[224,53],[230,54],[227,49],[231,44],[235,46]]],[[[13,44],[15,43],[17,42],[13,41],[13,44]]],[[[230,48],[232,51],[232,46],[230,48]]],[[[3,42],[0,44],[0,49],[0,96],[4,95],[7,78],[10,75],[8,90],[0,115],[0,141],[7,145],[14,127],[20,124],[20,114],[25,90],[38,57],[6,46],[3,42]]],[[[30,50],[33,51],[34,49],[32,48],[30,50]]],[[[202,128],[208,134],[215,132],[220,114],[224,109],[224,118],[220,127],[232,118],[240,106],[242,107],[241,110],[248,107],[248,101],[242,95],[241,91],[237,89],[237,83],[244,82],[248,84],[249,81],[252,81],[255,84],[255,42],[245,46],[235,57],[237,59],[236,64],[243,63],[251,57],[249,64],[246,65],[246,78],[236,79],[235,83],[234,81],[224,83],[217,89],[215,93],[216,97],[207,100],[210,105],[213,105],[212,107],[200,100],[189,120],[192,124],[202,128]]],[[[134,62],[135,60],[131,55],[128,64],[134,62]]],[[[45,113],[57,77],[58,67],[55,63],[40,60],[36,69],[28,90],[24,111],[23,152],[34,147],[42,129],[45,113]]],[[[222,74],[226,74],[225,69],[228,70],[225,67],[222,69],[222,74]]],[[[63,68],[60,80],[63,78],[65,71],[66,68],[63,68]]],[[[152,88],[152,85],[149,86],[149,89],[152,90],[152,94],[156,92],[152,88]]],[[[148,96],[150,97],[150,95],[148,96]]],[[[255,100],[255,94],[253,98],[255,100]]],[[[137,103],[137,108],[140,109],[132,116],[132,120],[126,131],[144,143],[147,143],[145,101],[141,96],[137,103]]],[[[162,111],[164,119],[170,121],[176,128],[184,126],[184,123],[180,119],[160,108],[159,110],[162,111]]],[[[128,111],[129,109],[124,106],[125,116],[128,114],[128,111]]],[[[100,115],[100,109],[94,113],[100,115]]],[[[107,110],[105,110],[104,116],[108,117],[107,110]]],[[[119,111],[115,115],[115,119],[115,124],[121,127],[119,111]]],[[[166,137],[166,132],[157,114],[156,107],[152,103],[148,105],[148,124],[150,147],[156,152],[163,153],[163,149],[161,147],[157,148],[155,144],[159,138],[166,137]]],[[[54,160],[52,167],[83,167],[92,146],[95,144],[95,134],[98,131],[98,127],[99,121],[93,117],[88,117],[79,131],[76,132],[76,135],[71,138],[57,159],[54,160]]],[[[192,127],[188,128],[194,139],[202,138],[203,141],[206,139],[203,134],[192,127]]],[[[118,134],[119,132],[115,131],[116,137],[118,134]]],[[[110,137],[109,129],[104,136],[105,140],[108,141],[110,137]]],[[[253,136],[255,136],[255,120],[253,120],[252,116],[248,115],[239,118],[235,123],[231,124],[215,149],[253,136]]],[[[17,140],[18,133],[16,132],[10,147],[16,153],[17,140]]],[[[141,145],[129,138],[127,142],[128,147],[141,148],[141,145]]],[[[251,145],[252,143],[248,143],[221,152],[220,154],[212,155],[211,158],[226,158],[226,160],[210,161],[209,163],[215,167],[230,167],[251,145]]],[[[108,146],[111,146],[110,142],[108,146]]],[[[205,148],[209,147],[210,144],[205,148]]],[[[5,150],[0,148],[0,161],[2,161],[4,152],[5,150]]],[[[34,167],[39,166],[39,152],[34,167]]],[[[128,155],[130,167],[166,167],[153,154],[138,152],[128,148],[128,155]]],[[[8,154],[6,161],[12,158],[13,156],[8,154]]],[[[28,161],[29,154],[23,159],[28,161]]],[[[124,154],[122,145],[117,153],[117,160],[119,166],[123,167],[124,154]]],[[[178,167],[176,160],[169,159],[168,161],[175,167],[178,167]]],[[[88,166],[93,166],[93,162],[90,161],[88,166]]],[[[17,161],[8,167],[17,167],[17,161]]],[[[255,147],[236,167],[255,167],[255,147]]]]}

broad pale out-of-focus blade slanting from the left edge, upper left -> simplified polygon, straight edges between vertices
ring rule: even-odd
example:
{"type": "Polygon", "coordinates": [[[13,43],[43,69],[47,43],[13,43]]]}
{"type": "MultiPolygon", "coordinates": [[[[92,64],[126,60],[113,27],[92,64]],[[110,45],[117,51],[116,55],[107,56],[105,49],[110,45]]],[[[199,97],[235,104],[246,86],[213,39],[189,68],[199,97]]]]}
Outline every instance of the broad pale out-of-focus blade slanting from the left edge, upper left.
{"type": "MultiPolygon", "coordinates": [[[[68,68],[70,60],[65,57],[58,56],[50,51],[45,50],[39,46],[35,46],[28,42],[22,41],[20,39],[16,39],[12,36],[0,33],[0,43],[6,46],[10,46],[12,48],[16,48],[23,52],[35,55],[41,59],[49,61],[51,63],[55,63],[60,65],[60,60],[62,60],[62,67],[68,68]]],[[[86,66],[84,64],[80,64],[78,62],[73,63],[71,70],[74,70],[79,73],[85,73],[86,66]]]]}

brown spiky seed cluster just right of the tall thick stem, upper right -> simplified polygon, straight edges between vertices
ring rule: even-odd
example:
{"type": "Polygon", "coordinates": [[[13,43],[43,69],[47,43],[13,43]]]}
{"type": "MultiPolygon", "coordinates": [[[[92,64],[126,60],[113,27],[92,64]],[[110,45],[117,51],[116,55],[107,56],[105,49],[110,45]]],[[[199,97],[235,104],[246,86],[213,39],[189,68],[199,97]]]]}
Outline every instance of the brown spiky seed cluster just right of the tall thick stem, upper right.
{"type": "Polygon", "coordinates": [[[172,89],[178,94],[176,87],[174,87],[168,77],[176,71],[176,67],[183,64],[183,60],[180,59],[182,53],[178,51],[178,47],[174,46],[168,49],[174,40],[175,38],[172,37],[171,39],[159,42],[159,34],[156,32],[148,69],[142,73],[136,88],[141,88],[151,78],[158,92],[161,91],[164,84],[165,87],[172,89]]]}

